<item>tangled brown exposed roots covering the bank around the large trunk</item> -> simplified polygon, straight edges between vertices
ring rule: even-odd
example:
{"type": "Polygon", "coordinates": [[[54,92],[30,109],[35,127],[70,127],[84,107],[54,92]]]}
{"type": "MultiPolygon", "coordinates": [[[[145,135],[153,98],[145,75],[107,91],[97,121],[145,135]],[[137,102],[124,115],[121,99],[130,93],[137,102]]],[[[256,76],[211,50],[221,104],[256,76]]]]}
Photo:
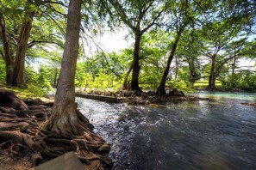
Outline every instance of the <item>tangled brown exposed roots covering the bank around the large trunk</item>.
{"type": "Polygon", "coordinates": [[[0,169],[35,167],[69,151],[78,155],[84,169],[112,167],[109,149],[102,149],[107,143],[91,131],[93,125],[81,112],[77,111],[78,118],[88,131],[72,138],[59,137],[41,129],[51,115],[53,102],[20,100],[6,91],[0,95],[0,169]]]}

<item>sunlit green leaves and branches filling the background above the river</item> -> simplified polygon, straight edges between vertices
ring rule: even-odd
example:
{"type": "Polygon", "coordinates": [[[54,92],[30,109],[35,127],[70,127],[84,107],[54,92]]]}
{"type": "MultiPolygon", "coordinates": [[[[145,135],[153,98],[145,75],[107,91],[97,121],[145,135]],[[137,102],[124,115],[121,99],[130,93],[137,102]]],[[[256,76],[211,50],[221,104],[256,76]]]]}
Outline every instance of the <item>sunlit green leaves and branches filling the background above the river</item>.
{"type": "MultiPolygon", "coordinates": [[[[61,5],[61,1],[33,2],[31,8],[36,8],[36,15],[26,53],[27,92],[41,96],[52,90],[59,76],[66,34],[66,7],[61,5]],[[44,58],[39,59],[41,65],[38,70],[31,66],[34,58],[44,58]]],[[[27,3],[28,1],[22,0],[0,2],[0,14],[3,15],[13,58],[27,3]]],[[[230,63],[234,56],[237,59],[256,56],[256,41],[250,37],[250,33],[255,29],[254,9],[253,1],[90,1],[84,3],[82,9],[82,42],[89,45],[91,37],[103,33],[105,26],[111,26],[112,30],[116,30],[121,28],[120,22],[127,26],[131,33],[142,33],[139,83],[143,89],[155,89],[159,85],[173,38],[177,34],[176,29],[187,24],[175,53],[178,63],[175,67],[171,66],[167,77],[169,86],[189,92],[191,78],[194,82],[201,77],[209,78],[212,62],[215,64],[215,78],[222,81],[222,84],[216,81],[216,86],[254,88],[256,80],[255,72],[252,70],[237,68],[234,75],[230,73],[230,63]],[[160,12],[163,9],[165,14],[160,12]],[[177,80],[173,79],[176,72],[177,80]]],[[[132,34],[134,36],[134,33],[132,34]]],[[[2,39],[0,54],[0,80],[3,81],[5,66],[2,39]]],[[[82,52],[79,54],[82,55],[82,52]]],[[[122,52],[99,52],[85,58],[83,62],[77,64],[76,87],[103,90],[120,88],[132,64],[133,54],[134,49],[127,48],[122,52]]],[[[198,81],[195,84],[196,87],[207,85],[208,81],[198,81]]]]}

